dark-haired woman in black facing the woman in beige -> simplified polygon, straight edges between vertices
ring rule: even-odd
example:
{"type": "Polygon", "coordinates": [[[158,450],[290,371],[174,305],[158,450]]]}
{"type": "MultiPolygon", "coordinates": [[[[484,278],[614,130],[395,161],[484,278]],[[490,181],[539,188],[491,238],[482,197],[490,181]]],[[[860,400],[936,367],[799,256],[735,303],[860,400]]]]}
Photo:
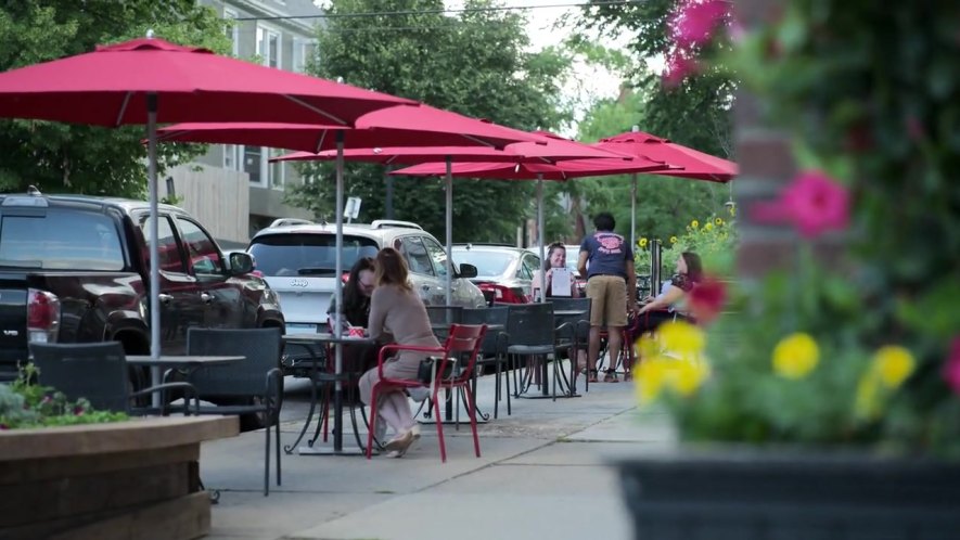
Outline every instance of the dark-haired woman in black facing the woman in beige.
{"type": "MultiPolygon", "coordinates": [[[[327,316],[330,318],[330,329],[334,327],[334,317],[344,318],[343,327],[350,326],[368,327],[370,325],[370,295],[373,294],[373,259],[361,257],[350,268],[348,281],[343,288],[343,309],[336,309],[336,298],[330,298],[330,307],[327,316]]],[[[344,371],[363,373],[376,365],[375,345],[344,345],[343,359],[344,371]]]]}

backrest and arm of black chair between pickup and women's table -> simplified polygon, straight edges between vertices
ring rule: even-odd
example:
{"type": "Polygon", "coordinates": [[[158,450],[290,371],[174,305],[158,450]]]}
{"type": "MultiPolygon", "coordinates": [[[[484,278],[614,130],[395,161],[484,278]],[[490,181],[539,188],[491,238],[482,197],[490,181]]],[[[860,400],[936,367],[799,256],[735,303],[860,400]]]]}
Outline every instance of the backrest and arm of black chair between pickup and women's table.
{"type": "Polygon", "coordinates": [[[190,376],[201,397],[259,397],[267,372],[280,367],[280,329],[190,329],[187,355],[243,356],[241,362],[201,368],[190,376]]]}

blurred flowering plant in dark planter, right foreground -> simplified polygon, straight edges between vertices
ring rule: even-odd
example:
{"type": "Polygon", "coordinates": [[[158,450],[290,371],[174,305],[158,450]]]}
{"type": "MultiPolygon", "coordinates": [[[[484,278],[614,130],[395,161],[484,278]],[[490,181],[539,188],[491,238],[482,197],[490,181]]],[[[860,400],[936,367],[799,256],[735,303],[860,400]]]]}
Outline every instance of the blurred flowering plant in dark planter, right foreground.
{"type": "Polygon", "coordinates": [[[943,63],[960,8],[946,5],[792,0],[745,31],[727,2],[681,2],[676,30],[700,33],[683,47],[737,69],[799,172],[741,205],[753,232],[786,239],[780,263],[694,288],[706,324],[638,344],[641,407],[666,408],[681,443],[618,463],[637,538],[960,538],[960,83],[943,63]],[[707,41],[722,24],[727,52],[707,41]]]}

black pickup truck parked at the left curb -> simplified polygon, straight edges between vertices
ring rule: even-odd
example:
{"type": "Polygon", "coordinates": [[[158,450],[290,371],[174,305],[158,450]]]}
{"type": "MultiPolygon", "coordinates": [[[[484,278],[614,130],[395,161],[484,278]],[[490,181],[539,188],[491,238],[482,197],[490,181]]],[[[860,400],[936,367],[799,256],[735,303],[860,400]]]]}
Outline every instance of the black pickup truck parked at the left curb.
{"type": "MultiPolygon", "coordinates": [[[[150,352],[150,206],[82,195],[0,195],[0,381],[30,342],[116,340],[150,352]]],[[[187,329],[284,327],[277,295],[229,258],[180,208],[159,206],[161,348],[178,355],[187,329]]]]}

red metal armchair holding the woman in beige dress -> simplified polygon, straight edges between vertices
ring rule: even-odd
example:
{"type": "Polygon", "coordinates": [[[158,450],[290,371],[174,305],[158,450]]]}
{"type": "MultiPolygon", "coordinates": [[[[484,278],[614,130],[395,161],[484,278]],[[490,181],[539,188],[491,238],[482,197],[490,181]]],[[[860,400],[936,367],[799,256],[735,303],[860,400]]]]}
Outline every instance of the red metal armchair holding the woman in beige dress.
{"type": "MultiPolygon", "coordinates": [[[[440,412],[440,401],[437,394],[440,388],[455,391],[460,389],[466,396],[466,410],[470,415],[470,429],[473,432],[473,447],[476,457],[479,458],[479,437],[476,433],[476,402],[471,389],[471,381],[473,370],[476,365],[476,356],[484,342],[484,334],[487,332],[486,324],[451,324],[447,334],[447,339],[441,347],[419,347],[414,345],[385,345],[380,349],[380,358],[377,359],[377,374],[380,381],[373,385],[372,398],[370,399],[370,425],[376,423],[376,401],[380,394],[387,391],[400,391],[405,388],[428,387],[421,381],[408,378],[387,378],[383,374],[384,361],[396,351],[419,351],[430,355],[436,362],[436,378],[431,390],[431,401],[434,407],[435,419],[437,420],[437,438],[440,442],[440,461],[447,461],[447,447],[444,442],[444,422],[440,412]],[[466,356],[466,360],[463,357],[466,356]],[[459,364],[459,369],[458,369],[459,364]],[[444,376],[447,374],[447,376],[444,376]]],[[[367,459],[372,454],[373,429],[368,430],[367,435],[367,459]]]]}

